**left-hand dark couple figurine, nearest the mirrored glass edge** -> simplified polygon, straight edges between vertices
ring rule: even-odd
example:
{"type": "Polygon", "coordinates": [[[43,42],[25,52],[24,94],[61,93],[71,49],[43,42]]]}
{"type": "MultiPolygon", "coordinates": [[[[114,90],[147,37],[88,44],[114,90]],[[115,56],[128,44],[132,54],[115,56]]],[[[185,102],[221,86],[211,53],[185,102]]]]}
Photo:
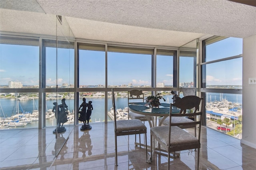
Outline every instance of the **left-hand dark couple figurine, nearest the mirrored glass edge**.
{"type": "Polygon", "coordinates": [[[63,127],[63,124],[68,121],[67,115],[68,115],[68,106],[65,103],[66,99],[61,100],[61,104],[58,105],[58,103],[54,102],[52,112],[55,113],[56,122],[57,122],[57,128],[53,131],[53,133],[60,133],[65,132],[66,128],[63,127]],[[62,123],[62,124],[61,124],[62,123]]]}

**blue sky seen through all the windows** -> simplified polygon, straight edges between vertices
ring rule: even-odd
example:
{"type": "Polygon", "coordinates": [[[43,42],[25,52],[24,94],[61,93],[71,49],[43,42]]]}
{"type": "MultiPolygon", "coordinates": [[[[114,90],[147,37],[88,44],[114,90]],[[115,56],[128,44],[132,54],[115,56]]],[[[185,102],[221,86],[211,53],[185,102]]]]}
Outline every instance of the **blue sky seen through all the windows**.
{"type": "MultiPolygon", "coordinates": [[[[39,47],[0,44],[0,85],[20,81],[38,85],[39,47]]],[[[242,39],[227,38],[207,46],[207,61],[242,54],[242,39]]],[[[56,49],[46,50],[46,84],[56,85],[56,49]]],[[[80,50],[80,85],[104,85],[105,52],[80,50]]],[[[180,82],[193,81],[192,58],[180,58],[180,82]]],[[[74,50],[58,49],[58,85],[74,84],[74,50]]],[[[172,85],[172,57],[157,56],[157,82],[172,85]]],[[[108,52],[108,85],[150,85],[151,56],[108,52]]],[[[242,85],[242,58],[209,64],[207,85],[242,85]]]]}

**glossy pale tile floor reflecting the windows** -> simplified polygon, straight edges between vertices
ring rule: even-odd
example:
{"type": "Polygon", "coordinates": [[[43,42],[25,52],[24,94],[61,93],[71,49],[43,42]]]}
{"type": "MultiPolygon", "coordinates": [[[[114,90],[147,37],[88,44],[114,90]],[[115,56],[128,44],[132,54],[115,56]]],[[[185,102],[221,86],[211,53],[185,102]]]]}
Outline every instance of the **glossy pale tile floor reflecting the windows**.
{"type": "MultiPolygon", "coordinates": [[[[148,129],[149,126],[146,123],[148,129]]],[[[1,130],[1,170],[166,170],[167,158],[153,156],[146,163],[144,148],[136,148],[134,135],[118,136],[118,166],[114,165],[113,123],[92,124],[89,131],[81,126],[68,128],[60,135],[67,139],[57,157],[52,128],[42,130],[1,130]],[[68,136],[68,134],[70,134],[68,136]]],[[[190,130],[189,130],[190,131],[190,130]]],[[[191,129],[193,133],[193,129],[191,129]]],[[[202,127],[200,149],[201,170],[255,170],[256,149],[240,144],[240,140],[216,130],[202,127]]],[[[148,143],[150,130],[147,133],[148,143]]],[[[143,140],[143,136],[142,136],[143,140]]],[[[57,146],[59,147],[59,146],[57,146]]],[[[185,150],[171,160],[172,170],[194,170],[195,151],[185,150]]]]}

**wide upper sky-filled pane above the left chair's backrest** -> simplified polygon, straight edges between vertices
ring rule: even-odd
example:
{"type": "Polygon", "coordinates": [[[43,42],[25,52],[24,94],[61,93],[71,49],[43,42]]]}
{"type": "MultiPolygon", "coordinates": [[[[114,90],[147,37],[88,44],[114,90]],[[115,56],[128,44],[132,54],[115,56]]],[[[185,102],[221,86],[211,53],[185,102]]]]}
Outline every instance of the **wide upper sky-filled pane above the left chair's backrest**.
{"type": "Polygon", "coordinates": [[[108,52],[108,87],[151,87],[151,57],[108,52]]]}

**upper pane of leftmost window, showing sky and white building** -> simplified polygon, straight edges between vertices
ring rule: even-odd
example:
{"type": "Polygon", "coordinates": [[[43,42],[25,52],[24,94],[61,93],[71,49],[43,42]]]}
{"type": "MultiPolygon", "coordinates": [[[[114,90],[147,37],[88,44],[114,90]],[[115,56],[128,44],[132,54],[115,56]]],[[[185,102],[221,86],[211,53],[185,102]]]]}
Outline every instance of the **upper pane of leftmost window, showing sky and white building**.
{"type": "Polygon", "coordinates": [[[1,88],[39,87],[39,47],[0,44],[1,88]]]}

